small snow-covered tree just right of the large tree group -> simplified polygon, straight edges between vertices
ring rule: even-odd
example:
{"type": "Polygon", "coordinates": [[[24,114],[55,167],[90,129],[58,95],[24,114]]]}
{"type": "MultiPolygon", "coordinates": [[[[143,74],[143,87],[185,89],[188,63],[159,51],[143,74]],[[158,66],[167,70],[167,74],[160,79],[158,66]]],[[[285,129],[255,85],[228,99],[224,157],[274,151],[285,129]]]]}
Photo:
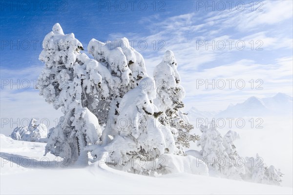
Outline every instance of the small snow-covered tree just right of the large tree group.
{"type": "MultiPolygon", "coordinates": [[[[240,174],[231,162],[230,156],[226,152],[223,145],[223,137],[216,129],[215,121],[207,126],[201,125],[200,131],[203,133],[198,145],[201,146],[200,151],[204,161],[209,167],[209,174],[214,176],[223,176],[231,179],[241,179],[240,174]]],[[[230,143],[226,143],[230,144],[230,143]]]]}

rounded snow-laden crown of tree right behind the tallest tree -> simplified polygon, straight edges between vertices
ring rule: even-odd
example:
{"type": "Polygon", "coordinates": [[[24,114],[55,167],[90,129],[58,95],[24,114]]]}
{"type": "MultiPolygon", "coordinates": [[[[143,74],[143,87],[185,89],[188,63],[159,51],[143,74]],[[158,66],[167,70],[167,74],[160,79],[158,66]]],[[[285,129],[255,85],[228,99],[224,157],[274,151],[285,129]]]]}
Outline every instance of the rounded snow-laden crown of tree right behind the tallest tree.
{"type": "Polygon", "coordinates": [[[124,95],[133,89],[139,80],[147,77],[143,56],[131,47],[128,39],[101,42],[91,39],[88,52],[101,62],[116,77],[119,95],[124,95]]]}

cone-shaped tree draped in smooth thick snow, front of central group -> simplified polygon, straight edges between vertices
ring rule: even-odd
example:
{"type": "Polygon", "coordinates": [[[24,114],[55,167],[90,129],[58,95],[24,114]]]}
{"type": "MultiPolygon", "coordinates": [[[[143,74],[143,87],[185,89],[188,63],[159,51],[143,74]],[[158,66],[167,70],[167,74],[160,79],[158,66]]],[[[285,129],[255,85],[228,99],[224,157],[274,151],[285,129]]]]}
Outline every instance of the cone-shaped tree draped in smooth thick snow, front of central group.
{"type": "MultiPolygon", "coordinates": [[[[115,126],[118,135],[105,146],[109,164],[125,159],[124,168],[133,173],[148,173],[138,161],[154,161],[164,153],[173,154],[177,148],[170,130],[155,117],[155,84],[152,78],[144,78],[139,85],[127,92],[119,106],[115,126]]],[[[93,152],[93,156],[96,156],[93,152]]]]}

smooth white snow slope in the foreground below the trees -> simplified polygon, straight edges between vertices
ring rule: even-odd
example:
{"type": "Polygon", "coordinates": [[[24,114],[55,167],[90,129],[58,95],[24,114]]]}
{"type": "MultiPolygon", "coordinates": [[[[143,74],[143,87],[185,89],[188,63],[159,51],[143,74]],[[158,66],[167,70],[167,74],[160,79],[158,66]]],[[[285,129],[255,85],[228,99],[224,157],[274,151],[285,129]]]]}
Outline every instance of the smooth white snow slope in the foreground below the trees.
{"type": "Polygon", "coordinates": [[[105,164],[99,166],[99,163],[62,168],[55,156],[42,156],[44,146],[44,143],[17,141],[0,135],[0,194],[293,193],[288,187],[183,173],[140,176],[108,168],[105,164]],[[37,160],[28,160],[32,157],[37,160]]]}

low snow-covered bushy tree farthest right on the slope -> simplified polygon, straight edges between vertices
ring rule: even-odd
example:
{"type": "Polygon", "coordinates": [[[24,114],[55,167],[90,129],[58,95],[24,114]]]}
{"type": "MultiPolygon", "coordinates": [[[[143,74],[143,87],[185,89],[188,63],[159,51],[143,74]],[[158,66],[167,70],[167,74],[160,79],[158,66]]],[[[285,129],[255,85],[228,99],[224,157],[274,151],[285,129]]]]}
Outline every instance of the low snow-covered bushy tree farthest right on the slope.
{"type": "Polygon", "coordinates": [[[277,170],[272,165],[268,167],[258,154],[256,154],[256,158],[246,157],[245,171],[242,178],[247,181],[273,185],[280,185],[282,182],[283,174],[280,169],[277,170]]]}

